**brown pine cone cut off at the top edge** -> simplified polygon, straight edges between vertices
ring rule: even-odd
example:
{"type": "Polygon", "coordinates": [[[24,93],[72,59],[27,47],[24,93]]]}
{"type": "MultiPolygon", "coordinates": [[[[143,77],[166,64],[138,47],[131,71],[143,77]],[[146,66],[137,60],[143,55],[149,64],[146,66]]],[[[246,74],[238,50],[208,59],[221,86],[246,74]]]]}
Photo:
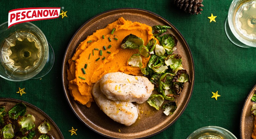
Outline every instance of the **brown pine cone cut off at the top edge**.
{"type": "Polygon", "coordinates": [[[174,4],[190,14],[202,14],[203,0],[174,0],[174,4]]]}

